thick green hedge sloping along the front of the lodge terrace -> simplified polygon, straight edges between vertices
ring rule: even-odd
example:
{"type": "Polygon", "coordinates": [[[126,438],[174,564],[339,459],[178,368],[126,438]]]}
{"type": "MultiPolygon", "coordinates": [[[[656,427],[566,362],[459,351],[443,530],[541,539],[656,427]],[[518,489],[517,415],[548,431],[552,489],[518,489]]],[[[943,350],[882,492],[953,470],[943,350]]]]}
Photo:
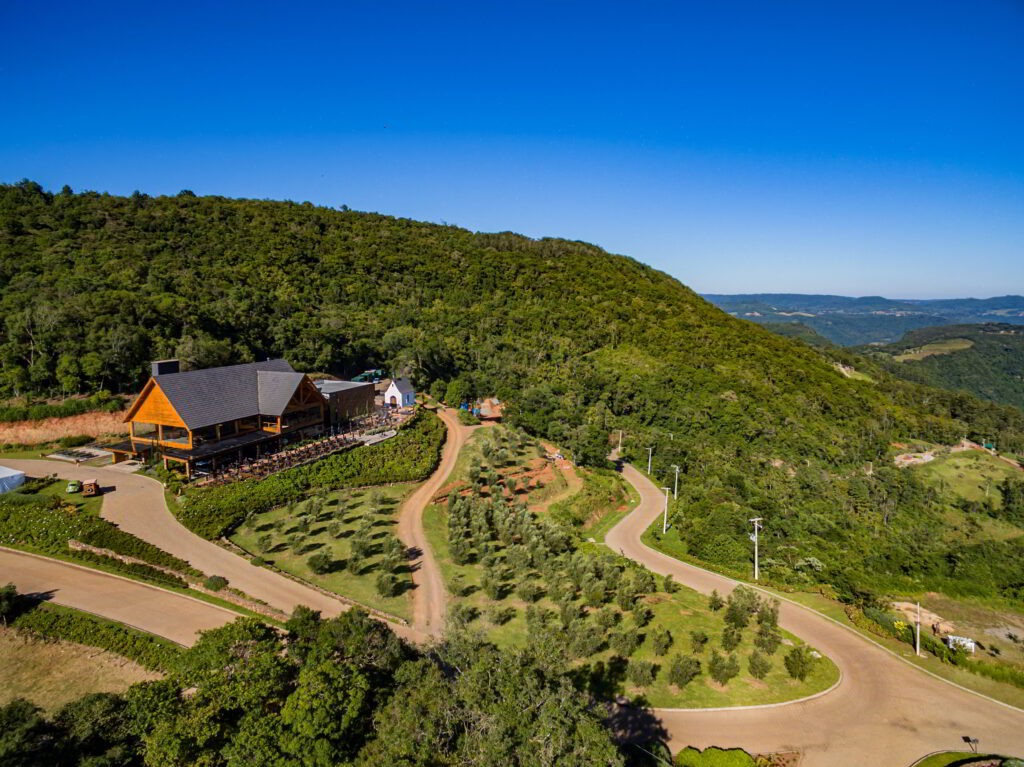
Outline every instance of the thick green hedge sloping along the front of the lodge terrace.
{"type": "Polygon", "coordinates": [[[298,501],[322,487],[343,489],[426,479],[440,460],[444,435],[441,420],[423,411],[383,442],[336,453],[262,480],[188,491],[175,512],[193,532],[215,540],[250,514],[298,501]]]}

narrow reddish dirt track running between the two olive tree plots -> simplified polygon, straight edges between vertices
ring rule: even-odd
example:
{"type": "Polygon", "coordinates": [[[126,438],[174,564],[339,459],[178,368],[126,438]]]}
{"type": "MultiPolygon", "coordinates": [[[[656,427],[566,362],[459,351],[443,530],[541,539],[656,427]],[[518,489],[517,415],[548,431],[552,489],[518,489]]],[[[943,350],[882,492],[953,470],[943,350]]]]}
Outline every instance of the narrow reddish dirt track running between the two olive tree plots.
{"type": "Polygon", "coordinates": [[[444,486],[444,480],[459,459],[466,437],[472,428],[459,423],[455,411],[439,410],[437,415],[447,428],[447,437],[441,451],[441,460],[430,478],[406,499],[398,511],[399,540],[417,553],[413,560],[413,627],[424,636],[436,637],[444,628],[444,608],[447,594],[440,567],[434,559],[427,535],[423,529],[423,511],[430,500],[444,486]]]}

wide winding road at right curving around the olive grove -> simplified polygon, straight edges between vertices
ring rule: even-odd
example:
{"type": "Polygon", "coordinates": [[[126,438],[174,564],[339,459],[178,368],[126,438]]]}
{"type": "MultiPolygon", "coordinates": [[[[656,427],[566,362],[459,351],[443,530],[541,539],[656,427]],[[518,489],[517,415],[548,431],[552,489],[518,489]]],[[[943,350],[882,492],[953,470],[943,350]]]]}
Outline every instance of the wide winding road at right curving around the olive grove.
{"type": "MultiPolygon", "coordinates": [[[[613,551],[705,594],[738,582],[644,545],[640,537],[662,513],[663,495],[626,465],[640,494],[637,508],[605,537],[613,551]]],[[[954,687],[889,654],[854,632],[783,601],[779,623],[827,654],[843,674],[828,694],[805,702],[736,711],[655,710],[673,751],[685,745],[740,747],[753,753],[800,751],[801,767],[905,767],[939,750],[963,750],[965,735],[982,752],[1024,756],[1024,713],[954,687]]]]}

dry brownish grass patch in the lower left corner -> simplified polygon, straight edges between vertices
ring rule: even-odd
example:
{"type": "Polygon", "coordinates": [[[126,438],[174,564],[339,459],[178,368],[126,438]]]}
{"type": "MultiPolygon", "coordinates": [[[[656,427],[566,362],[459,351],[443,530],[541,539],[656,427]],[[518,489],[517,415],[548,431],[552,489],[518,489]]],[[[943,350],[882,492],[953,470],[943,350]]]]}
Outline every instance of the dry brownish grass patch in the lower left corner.
{"type": "Polygon", "coordinates": [[[0,658],[0,706],[25,697],[50,714],[87,693],[122,692],[161,677],[113,652],[27,639],[2,627],[0,658]]]}

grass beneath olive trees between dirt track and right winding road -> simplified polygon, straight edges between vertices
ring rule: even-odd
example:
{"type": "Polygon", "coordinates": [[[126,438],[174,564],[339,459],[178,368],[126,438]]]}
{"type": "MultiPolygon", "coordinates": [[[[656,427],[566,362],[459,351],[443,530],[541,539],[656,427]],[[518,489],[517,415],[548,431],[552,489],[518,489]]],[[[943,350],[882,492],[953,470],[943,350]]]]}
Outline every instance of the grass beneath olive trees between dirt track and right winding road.
{"type": "MultiPolygon", "coordinates": [[[[428,507],[424,515],[424,527],[441,567],[445,585],[453,595],[450,615],[454,615],[457,622],[482,632],[500,647],[522,645],[527,641],[531,633],[526,617],[528,608],[543,610],[552,624],[559,622],[564,600],[558,602],[546,592],[536,602],[526,601],[518,594],[518,590],[513,591],[512,584],[508,584],[502,589],[499,598],[487,596],[484,591],[483,567],[476,563],[456,564],[452,556],[446,532],[447,513],[444,508],[439,505],[428,507]]],[[[498,552],[498,556],[503,554],[504,550],[498,552]]],[[[594,558],[608,556],[594,545],[585,545],[581,554],[594,558]]],[[[618,560],[617,557],[612,559],[618,560]]],[[[575,673],[587,679],[590,688],[602,697],[625,693],[640,698],[647,705],[665,708],[759,705],[813,694],[826,689],[838,679],[838,670],[827,659],[816,661],[813,672],[805,681],[791,679],[782,658],[790,645],[799,643],[799,640],[784,632],[782,645],[771,657],[771,671],[763,680],[755,679],[746,666],[746,658],[754,647],[756,627],[753,627],[742,632],[742,641],[734,650],[736,658],[740,661],[738,676],[725,686],[719,685],[711,680],[707,669],[712,650],[720,649],[725,626],[724,610],[711,611],[707,598],[684,588],[679,588],[672,594],[663,590],[647,593],[640,596],[639,601],[641,606],[650,610],[650,620],[642,627],[637,626],[631,610],[623,610],[610,600],[603,607],[587,605],[582,594],[569,600],[568,609],[577,613],[574,620],[578,622],[578,629],[592,627],[593,631],[599,632],[597,613],[602,610],[613,616],[609,636],[626,632],[640,637],[635,650],[627,653],[628,659],[624,659],[602,639],[597,643],[596,650],[587,652],[573,662],[575,673]],[[662,655],[654,649],[655,629],[667,629],[672,638],[671,646],[662,655]],[[680,689],[668,681],[669,666],[674,655],[691,654],[690,632],[703,632],[709,639],[703,649],[694,655],[700,663],[700,674],[680,689]],[[636,662],[653,664],[654,679],[651,683],[639,686],[626,678],[628,665],[636,662]]]]}

